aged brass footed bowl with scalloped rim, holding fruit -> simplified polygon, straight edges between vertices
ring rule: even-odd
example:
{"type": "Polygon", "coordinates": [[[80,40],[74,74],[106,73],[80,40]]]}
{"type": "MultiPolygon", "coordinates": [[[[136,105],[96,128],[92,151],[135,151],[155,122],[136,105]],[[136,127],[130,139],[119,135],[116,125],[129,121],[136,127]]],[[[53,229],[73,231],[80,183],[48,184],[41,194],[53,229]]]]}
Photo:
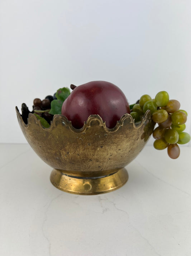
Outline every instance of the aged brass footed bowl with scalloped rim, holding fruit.
{"type": "Polygon", "coordinates": [[[128,180],[124,169],[143,149],[154,129],[147,111],[139,125],[124,114],[113,129],[98,115],[91,115],[81,129],[65,116],[54,115],[44,128],[34,114],[25,124],[16,114],[25,138],[38,156],[53,167],[52,184],[65,192],[99,194],[120,188],[128,180]]]}

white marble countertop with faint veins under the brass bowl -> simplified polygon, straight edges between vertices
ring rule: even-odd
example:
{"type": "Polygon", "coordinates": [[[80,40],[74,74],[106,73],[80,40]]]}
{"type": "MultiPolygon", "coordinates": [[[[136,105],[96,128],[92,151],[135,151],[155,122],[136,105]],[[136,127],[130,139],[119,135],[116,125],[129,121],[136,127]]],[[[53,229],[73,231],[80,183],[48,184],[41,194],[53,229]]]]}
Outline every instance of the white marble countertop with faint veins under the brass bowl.
{"type": "Polygon", "coordinates": [[[94,196],[56,189],[28,144],[0,151],[0,255],[191,255],[191,147],[146,146],[123,187],[94,196]]]}

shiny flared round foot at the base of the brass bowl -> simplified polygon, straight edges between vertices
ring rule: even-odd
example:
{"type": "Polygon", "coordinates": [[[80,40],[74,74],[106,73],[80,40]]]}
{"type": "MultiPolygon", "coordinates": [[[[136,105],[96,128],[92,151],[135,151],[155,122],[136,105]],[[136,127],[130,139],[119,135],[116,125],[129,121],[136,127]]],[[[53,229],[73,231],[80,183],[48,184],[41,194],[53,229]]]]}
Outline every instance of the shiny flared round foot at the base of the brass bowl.
{"type": "Polygon", "coordinates": [[[54,187],[64,192],[80,195],[95,195],[108,193],[122,187],[128,180],[128,172],[123,168],[107,176],[83,178],[69,176],[53,169],[50,180],[54,187]]]}

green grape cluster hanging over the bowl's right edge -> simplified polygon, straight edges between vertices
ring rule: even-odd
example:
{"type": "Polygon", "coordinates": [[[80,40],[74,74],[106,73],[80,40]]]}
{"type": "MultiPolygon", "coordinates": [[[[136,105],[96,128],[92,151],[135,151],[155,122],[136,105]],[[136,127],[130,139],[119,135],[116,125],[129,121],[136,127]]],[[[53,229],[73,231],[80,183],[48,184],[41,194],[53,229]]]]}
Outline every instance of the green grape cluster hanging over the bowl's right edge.
{"type": "Polygon", "coordinates": [[[180,109],[178,100],[169,100],[166,91],[160,91],[154,99],[147,94],[141,96],[139,103],[132,105],[130,114],[135,122],[138,122],[147,110],[151,111],[152,120],[158,124],[153,130],[154,148],[158,150],[167,148],[170,158],[178,158],[180,155],[178,144],[186,144],[190,141],[190,135],[184,132],[187,112],[180,109]]]}

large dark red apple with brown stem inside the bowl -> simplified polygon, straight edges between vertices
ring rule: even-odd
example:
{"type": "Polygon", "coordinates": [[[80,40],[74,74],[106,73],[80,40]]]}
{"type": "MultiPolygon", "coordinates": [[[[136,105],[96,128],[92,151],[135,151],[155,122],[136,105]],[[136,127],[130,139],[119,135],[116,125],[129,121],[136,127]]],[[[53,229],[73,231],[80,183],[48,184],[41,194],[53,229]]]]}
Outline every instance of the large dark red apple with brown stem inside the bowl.
{"type": "Polygon", "coordinates": [[[62,115],[80,129],[91,114],[98,114],[108,128],[115,127],[125,113],[130,113],[124,93],[114,84],[92,81],[77,87],[63,102],[62,115]]]}

